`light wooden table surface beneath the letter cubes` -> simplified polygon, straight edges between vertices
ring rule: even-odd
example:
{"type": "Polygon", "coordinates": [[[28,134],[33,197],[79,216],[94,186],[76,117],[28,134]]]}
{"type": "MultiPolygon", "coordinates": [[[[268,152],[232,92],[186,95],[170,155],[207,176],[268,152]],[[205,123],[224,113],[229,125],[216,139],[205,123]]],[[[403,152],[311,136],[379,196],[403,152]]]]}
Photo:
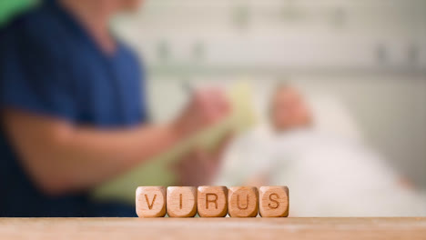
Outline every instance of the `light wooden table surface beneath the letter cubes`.
{"type": "Polygon", "coordinates": [[[426,239],[426,218],[0,218],[0,239],[426,239]]]}

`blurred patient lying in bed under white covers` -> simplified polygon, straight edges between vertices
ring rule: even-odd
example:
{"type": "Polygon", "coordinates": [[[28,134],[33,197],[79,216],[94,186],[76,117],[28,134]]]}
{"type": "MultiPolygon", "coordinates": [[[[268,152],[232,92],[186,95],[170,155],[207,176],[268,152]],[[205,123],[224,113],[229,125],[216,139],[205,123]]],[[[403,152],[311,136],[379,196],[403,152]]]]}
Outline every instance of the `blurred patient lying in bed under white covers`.
{"type": "Polygon", "coordinates": [[[279,86],[269,125],[231,145],[217,184],[289,185],[292,216],[426,215],[424,196],[401,185],[401,176],[359,135],[321,128],[323,113],[314,115],[312,105],[295,87],[279,86]]]}

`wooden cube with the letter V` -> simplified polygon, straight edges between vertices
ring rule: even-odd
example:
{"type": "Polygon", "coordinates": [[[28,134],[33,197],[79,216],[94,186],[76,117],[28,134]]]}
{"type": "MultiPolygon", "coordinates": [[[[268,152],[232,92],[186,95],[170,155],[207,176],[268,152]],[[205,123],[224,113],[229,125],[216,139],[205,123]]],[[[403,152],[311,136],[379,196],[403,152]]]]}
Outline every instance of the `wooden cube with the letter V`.
{"type": "Polygon", "coordinates": [[[166,188],[164,186],[137,187],[136,210],[139,217],[166,215],[166,188]]]}

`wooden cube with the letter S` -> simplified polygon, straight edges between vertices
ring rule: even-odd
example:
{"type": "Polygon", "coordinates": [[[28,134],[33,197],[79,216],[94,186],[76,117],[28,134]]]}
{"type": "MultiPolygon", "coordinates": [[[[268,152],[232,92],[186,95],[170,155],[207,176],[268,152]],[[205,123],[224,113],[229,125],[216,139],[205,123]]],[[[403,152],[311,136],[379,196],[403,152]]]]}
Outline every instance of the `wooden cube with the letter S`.
{"type": "Polygon", "coordinates": [[[289,215],[289,188],[287,186],[261,186],[260,215],[279,217],[289,215]]]}

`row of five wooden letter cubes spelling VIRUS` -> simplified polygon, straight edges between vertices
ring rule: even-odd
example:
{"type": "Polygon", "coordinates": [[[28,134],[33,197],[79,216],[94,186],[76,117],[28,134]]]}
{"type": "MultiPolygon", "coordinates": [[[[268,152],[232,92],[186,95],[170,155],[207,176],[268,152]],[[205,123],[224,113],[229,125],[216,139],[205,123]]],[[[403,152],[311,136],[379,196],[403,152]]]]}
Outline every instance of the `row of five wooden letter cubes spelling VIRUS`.
{"type": "Polygon", "coordinates": [[[289,215],[287,186],[139,186],[139,217],[285,217],[289,215]]]}

